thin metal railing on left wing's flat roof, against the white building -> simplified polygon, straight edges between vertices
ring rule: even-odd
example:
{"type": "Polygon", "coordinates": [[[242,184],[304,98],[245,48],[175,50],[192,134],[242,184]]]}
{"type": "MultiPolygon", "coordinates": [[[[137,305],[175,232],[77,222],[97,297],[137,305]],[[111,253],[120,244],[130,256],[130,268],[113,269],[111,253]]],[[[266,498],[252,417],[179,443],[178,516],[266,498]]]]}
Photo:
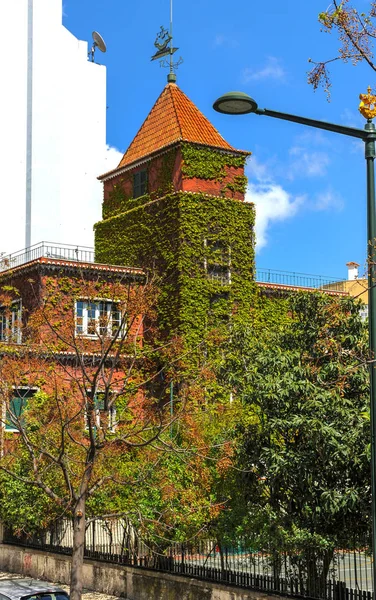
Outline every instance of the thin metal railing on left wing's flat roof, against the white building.
{"type": "Polygon", "coordinates": [[[14,269],[41,257],[92,263],[94,262],[94,249],[86,246],[40,242],[24,250],[13,252],[13,254],[0,255],[0,271],[14,269]]]}

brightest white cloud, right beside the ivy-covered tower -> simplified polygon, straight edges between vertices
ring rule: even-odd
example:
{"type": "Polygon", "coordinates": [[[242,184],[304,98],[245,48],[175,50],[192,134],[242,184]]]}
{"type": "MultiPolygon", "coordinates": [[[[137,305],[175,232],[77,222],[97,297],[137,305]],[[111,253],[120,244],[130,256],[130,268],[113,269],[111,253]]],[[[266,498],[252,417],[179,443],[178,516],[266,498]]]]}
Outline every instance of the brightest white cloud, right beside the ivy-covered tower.
{"type": "Polygon", "coordinates": [[[284,221],[293,217],[302,205],[304,197],[292,197],[275,183],[250,183],[246,202],[256,205],[256,248],[266,246],[267,230],[273,221],[284,221]]]}

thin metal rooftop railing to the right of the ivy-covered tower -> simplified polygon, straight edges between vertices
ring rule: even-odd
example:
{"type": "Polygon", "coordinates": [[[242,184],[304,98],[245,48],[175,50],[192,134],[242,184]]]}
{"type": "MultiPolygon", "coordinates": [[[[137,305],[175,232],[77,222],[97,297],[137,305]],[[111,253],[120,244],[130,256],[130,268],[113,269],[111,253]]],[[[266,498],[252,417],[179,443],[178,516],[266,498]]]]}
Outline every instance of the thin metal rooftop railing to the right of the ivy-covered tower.
{"type": "Polygon", "coordinates": [[[307,273],[294,273],[291,271],[278,271],[273,269],[257,269],[256,281],[258,283],[274,283],[292,287],[313,288],[341,292],[344,291],[343,279],[335,277],[322,277],[307,273]]]}

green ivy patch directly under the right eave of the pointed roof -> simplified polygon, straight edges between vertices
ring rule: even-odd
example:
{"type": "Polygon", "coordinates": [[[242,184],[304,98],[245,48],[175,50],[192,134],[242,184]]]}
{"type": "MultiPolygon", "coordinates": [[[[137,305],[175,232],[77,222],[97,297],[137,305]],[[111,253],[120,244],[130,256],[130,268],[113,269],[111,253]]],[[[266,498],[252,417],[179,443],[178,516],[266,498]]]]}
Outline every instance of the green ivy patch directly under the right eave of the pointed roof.
{"type": "Polygon", "coordinates": [[[183,176],[190,179],[214,179],[223,181],[229,167],[244,167],[247,157],[239,154],[229,154],[193,144],[181,146],[183,176]]]}

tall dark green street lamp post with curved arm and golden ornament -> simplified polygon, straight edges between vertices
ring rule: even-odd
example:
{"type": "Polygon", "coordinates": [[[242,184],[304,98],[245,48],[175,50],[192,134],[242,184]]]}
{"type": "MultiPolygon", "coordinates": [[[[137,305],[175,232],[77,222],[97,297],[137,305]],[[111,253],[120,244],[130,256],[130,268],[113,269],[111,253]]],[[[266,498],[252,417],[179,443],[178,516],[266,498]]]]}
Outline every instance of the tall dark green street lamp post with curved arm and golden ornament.
{"type": "Polygon", "coordinates": [[[372,122],[376,116],[376,96],[368,88],[367,94],[360,94],[359,111],[367,119],[364,129],[346,127],[326,121],[317,121],[297,115],[290,115],[268,108],[258,108],[253,98],[243,92],[229,92],[221,96],[213,104],[213,108],[220,113],[229,115],[244,115],[255,113],[285,121],[301,123],[309,127],[333,131],[350,137],[363,140],[365,146],[365,159],[367,164],[367,257],[368,257],[368,330],[370,347],[370,413],[371,413],[371,490],[372,490],[372,574],[373,589],[376,592],[376,206],[375,206],[375,172],[374,160],[376,157],[375,140],[376,128],[372,122]]]}

